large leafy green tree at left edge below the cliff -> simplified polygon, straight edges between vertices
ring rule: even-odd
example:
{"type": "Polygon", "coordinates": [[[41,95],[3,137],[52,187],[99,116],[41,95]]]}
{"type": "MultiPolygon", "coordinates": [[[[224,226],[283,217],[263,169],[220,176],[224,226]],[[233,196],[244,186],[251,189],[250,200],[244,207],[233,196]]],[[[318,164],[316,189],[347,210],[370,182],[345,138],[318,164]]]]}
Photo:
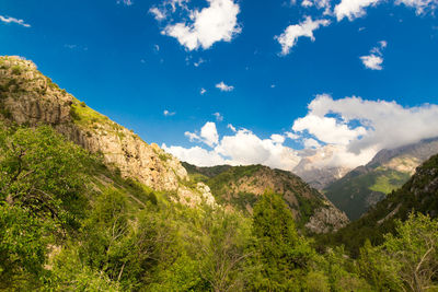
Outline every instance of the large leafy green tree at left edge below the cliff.
{"type": "Polygon", "coordinates": [[[0,200],[74,226],[85,199],[80,194],[92,160],[50,127],[0,133],[0,200]]]}

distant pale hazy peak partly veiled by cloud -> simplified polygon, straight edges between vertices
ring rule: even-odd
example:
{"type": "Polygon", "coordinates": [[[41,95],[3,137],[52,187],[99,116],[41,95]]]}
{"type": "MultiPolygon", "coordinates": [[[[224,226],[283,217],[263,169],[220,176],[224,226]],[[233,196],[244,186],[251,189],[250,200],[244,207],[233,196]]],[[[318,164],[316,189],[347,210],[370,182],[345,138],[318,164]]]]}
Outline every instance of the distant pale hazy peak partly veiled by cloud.
{"type": "Polygon", "coordinates": [[[311,153],[306,153],[292,172],[316,189],[324,189],[351,171],[349,167],[330,165],[335,145],[325,145],[320,151],[306,151],[311,153]]]}

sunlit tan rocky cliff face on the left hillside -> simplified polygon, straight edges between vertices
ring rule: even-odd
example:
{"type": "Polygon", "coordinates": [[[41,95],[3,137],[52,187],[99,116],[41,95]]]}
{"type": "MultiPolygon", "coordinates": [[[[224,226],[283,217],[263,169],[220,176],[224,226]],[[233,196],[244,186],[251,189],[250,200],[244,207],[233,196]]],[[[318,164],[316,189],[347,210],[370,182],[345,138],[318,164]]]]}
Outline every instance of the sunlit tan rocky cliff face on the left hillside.
{"type": "Polygon", "coordinates": [[[48,124],[94,153],[125,177],[159,190],[177,190],[188,179],[186,170],[157,144],[80,103],[36,66],[20,57],[0,57],[0,113],[18,124],[48,124]]]}

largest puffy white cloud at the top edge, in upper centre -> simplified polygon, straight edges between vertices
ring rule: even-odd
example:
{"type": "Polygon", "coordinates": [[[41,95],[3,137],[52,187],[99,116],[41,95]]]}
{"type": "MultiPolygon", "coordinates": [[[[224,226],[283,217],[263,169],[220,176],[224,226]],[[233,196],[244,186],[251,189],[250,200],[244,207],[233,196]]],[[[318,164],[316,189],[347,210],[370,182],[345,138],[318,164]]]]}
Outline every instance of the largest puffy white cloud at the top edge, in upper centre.
{"type": "Polygon", "coordinates": [[[162,34],[175,37],[188,50],[208,49],[217,42],[231,42],[241,32],[240,7],[233,0],[207,0],[208,8],[189,11],[189,21],[169,24],[162,34]]]}

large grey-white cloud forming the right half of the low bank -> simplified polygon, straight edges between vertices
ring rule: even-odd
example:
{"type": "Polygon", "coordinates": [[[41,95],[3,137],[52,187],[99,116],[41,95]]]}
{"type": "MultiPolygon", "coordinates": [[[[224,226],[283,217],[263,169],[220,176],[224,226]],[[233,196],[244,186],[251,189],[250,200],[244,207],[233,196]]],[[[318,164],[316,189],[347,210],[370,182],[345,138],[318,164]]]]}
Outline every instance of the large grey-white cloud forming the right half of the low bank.
{"type": "Polygon", "coordinates": [[[438,137],[438,105],[429,104],[403,107],[395,102],[366,101],[356,96],[335,101],[323,94],[310,103],[308,115],[299,120],[309,120],[308,124],[301,122],[301,130],[306,129],[325,143],[345,145],[354,154],[362,151],[376,153],[381,149],[393,149],[438,137]],[[326,117],[333,114],[339,116],[336,124],[326,117]],[[320,127],[325,127],[327,131],[332,129],[333,133],[314,129],[312,118],[307,117],[318,117],[323,121],[320,127]],[[350,127],[351,122],[360,126],[350,127]]]}

